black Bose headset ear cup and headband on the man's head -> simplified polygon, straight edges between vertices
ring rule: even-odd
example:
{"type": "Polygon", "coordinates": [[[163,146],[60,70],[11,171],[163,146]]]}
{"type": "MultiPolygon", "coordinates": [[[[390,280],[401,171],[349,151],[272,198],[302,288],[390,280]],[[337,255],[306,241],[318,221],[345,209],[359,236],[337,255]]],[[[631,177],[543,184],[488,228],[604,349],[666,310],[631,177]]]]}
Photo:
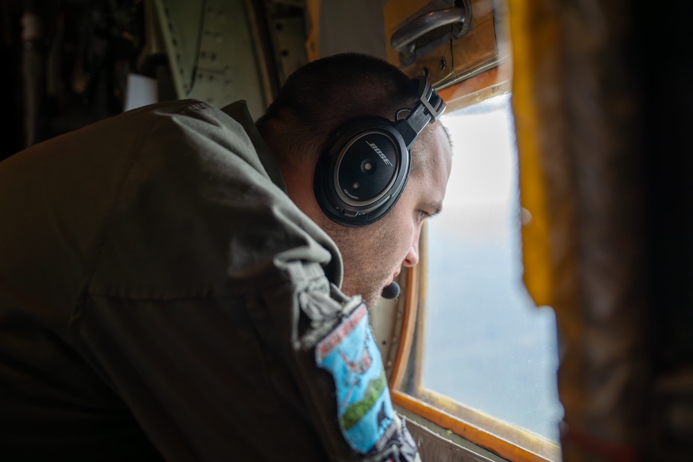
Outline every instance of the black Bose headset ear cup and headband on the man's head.
{"type": "Polygon", "coordinates": [[[313,190],[331,220],[367,226],[387,215],[402,194],[414,141],[445,110],[426,77],[412,82],[419,99],[413,109],[399,109],[394,122],[374,116],[353,119],[328,141],[315,167],[313,190]],[[407,118],[397,120],[404,111],[409,111],[407,118]]]}

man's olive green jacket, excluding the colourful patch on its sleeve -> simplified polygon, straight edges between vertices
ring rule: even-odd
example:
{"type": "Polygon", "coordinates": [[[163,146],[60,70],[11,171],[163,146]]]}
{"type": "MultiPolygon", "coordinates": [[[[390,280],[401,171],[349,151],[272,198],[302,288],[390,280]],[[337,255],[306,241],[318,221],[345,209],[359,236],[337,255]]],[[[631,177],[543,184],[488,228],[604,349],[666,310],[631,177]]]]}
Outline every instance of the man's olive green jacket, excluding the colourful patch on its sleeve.
{"type": "Polygon", "coordinates": [[[11,460],[362,459],[312,349],[360,299],[245,103],[157,103],[15,154],[0,217],[11,460]]]}

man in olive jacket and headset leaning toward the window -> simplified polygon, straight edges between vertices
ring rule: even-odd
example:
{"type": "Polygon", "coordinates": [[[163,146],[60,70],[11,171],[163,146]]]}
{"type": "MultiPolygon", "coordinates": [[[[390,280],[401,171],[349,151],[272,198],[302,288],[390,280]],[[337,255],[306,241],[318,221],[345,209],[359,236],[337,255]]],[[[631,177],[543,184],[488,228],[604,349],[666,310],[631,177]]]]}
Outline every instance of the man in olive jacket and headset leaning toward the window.
{"type": "Polygon", "coordinates": [[[0,163],[3,454],[419,459],[366,305],[416,265],[444,197],[426,85],[337,55],[292,75],[257,126],[243,102],[171,101],[0,163]]]}

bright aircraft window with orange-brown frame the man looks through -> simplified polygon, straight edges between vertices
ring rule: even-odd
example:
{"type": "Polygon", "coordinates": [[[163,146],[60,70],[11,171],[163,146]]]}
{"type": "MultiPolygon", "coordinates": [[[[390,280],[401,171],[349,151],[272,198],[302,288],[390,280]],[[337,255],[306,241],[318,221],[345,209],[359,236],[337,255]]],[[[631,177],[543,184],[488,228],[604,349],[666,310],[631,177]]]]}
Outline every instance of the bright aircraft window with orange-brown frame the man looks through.
{"type": "Polygon", "coordinates": [[[422,238],[416,333],[400,391],[524,445],[520,455],[541,454],[529,459],[560,460],[556,323],[522,281],[520,220],[531,218],[520,212],[510,98],[442,118],[453,170],[444,213],[422,238]]]}

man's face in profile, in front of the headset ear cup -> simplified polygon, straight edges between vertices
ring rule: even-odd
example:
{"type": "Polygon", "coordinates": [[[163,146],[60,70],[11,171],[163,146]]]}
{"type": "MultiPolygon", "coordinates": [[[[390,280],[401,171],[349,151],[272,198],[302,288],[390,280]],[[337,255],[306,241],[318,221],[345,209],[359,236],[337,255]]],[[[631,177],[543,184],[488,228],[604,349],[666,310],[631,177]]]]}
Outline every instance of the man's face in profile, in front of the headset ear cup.
{"type": "Polygon", "coordinates": [[[412,165],[405,190],[388,215],[362,228],[330,226],[344,260],[342,292],[360,294],[370,308],[402,266],[419,263],[421,226],[441,210],[445,196],[452,151],[440,123],[426,127],[413,150],[412,163],[419,165],[412,165]]]}

